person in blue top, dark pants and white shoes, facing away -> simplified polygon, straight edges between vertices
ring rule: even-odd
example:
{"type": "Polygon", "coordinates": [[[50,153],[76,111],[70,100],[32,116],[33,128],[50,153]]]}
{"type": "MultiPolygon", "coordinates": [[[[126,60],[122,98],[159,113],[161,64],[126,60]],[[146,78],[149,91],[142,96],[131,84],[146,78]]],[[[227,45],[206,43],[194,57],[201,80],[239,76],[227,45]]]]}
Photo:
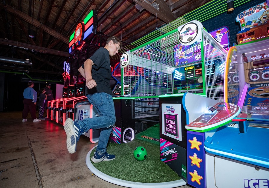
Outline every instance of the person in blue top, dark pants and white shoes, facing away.
{"type": "Polygon", "coordinates": [[[36,118],[36,100],[37,93],[33,89],[34,83],[32,81],[28,82],[28,87],[23,91],[23,104],[24,108],[22,111],[22,121],[27,121],[26,117],[30,112],[31,117],[34,122],[41,121],[36,118]]]}

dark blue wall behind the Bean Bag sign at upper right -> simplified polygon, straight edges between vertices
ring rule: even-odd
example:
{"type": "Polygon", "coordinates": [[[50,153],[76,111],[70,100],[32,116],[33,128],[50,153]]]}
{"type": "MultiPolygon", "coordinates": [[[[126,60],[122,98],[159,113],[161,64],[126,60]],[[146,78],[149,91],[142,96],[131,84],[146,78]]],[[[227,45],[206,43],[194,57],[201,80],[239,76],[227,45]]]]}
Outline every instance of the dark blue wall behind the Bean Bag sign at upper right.
{"type": "MultiPolygon", "coordinates": [[[[236,1],[236,0],[235,0],[236,1]]],[[[244,10],[249,9],[257,4],[263,3],[265,0],[253,0],[246,4],[243,4],[240,7],[236,7],[231,13],[224,13],[219,16],[216,16],[212,19],[204,21],[202,24],[207,31],[213,31],[219,27],[227,26],[229,27],[230,32],[230,46],[233,46],[233,43],[237,44],[236,41],[236,34],[241,30],[240,24],[236,22],[236,17],[239,13],[243,12],[244,10]]],[[[227,8],[227,7],[224,7],[227,8]]]]}

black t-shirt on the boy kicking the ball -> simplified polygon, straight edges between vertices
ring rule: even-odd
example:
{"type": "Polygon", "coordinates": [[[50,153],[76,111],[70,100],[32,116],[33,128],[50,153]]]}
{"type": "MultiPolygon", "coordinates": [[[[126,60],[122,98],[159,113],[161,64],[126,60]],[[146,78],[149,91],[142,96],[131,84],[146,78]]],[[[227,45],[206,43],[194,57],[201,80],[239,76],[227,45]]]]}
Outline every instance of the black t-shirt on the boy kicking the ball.
{"type": "MultiPolygon", "coordinates": [[[[89,59],[91,59],[91,61],[94,63],[91,69],[91,76],[92,79],[95,80],[97,86],[92,89],[88,89],[86,87],[86,95],[100,92],[105,92],[112,95],[109,85],[111,78],[111,67],[108,50],[101,47],[96,50],[94,55],[92,55],[89,59]]],[[[82,68],[84,68],[84,65],[82,65],[82,68]]]]}

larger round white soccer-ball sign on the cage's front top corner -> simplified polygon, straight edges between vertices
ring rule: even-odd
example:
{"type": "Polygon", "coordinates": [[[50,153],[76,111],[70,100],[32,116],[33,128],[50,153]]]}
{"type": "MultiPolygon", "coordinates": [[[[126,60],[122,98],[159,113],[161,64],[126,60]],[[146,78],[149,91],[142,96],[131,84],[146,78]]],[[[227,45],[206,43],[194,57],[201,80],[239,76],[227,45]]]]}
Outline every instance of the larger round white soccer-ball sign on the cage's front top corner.
{"type": "Polygon", "coordinates": [[[191,21],[178,27],[179,42],[185,46],[202,40],[202,24],[199,21],[191,21]]]}

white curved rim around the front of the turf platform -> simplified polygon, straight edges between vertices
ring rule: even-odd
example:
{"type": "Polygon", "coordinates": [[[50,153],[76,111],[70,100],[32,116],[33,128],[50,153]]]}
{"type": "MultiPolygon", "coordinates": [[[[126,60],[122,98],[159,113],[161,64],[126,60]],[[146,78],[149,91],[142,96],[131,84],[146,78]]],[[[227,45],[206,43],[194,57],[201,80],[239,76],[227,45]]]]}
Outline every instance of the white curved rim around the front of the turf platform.
{"type": "MultiPolygon", "coordinates": [[[[95,146],[97,147],[97,146],[95,146]]],[[[95,148],[94,147],[94,148],[95,148]]],[[[183,186],[186,185],[186,182],[184,180],[177,180],[177,181],[169,181],[169,182],[161,182],[161,183],[140,183],[140,182],[134,182],[134,181],[126,181],[126,180],[121,180],[118,178],[114,178],[111,177],[109,175],[106,175],[105,173],[99,171],[97,168],[95,168],[93,166],[93,164],[91,164],[91,159],[90,159],[90,155],[91,155],[91,151],[94,150],[94,148],[92,148],[87,156],[86,156],[86,164],[88,169],[91,170],[91,172],[93,174],[95,174],[96,176],[98,176],[99,178],[108,181],[112,184],[116,184],[116,185],[120,185],[123,187],[141,187],[141,188],[172,188],[172,187],[179,187],[179,186],[183,186]]]]}

